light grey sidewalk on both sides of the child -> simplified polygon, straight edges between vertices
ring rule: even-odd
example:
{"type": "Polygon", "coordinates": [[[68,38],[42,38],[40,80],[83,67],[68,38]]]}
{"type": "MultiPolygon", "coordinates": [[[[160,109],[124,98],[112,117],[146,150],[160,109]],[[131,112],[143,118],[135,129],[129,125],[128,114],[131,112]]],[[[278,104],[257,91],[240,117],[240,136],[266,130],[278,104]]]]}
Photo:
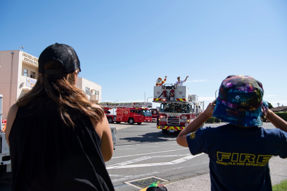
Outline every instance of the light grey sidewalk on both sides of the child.
{"type": "MultiPolygon", "coordinates": [[[[269,168],[272,186],[287,179],[287,158],[272,157],[269,160],[269,168]]],[[[210,176],[204,174],[165,184],[165,186],[168,191],[210,191],[210,176]]]]}

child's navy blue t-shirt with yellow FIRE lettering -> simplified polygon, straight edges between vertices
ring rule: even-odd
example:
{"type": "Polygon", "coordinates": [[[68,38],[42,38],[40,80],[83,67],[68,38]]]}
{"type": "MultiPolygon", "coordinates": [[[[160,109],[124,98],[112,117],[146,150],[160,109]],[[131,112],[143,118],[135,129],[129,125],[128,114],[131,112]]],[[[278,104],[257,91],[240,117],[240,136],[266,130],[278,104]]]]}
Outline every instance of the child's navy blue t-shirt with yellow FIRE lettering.
{"type": "Polygon", "coordinates": [[[287,157],[287,133],[231,124],[187,135],[191,154],[210,158],[211,190],[272,190],[268,161],[287,157]]]}

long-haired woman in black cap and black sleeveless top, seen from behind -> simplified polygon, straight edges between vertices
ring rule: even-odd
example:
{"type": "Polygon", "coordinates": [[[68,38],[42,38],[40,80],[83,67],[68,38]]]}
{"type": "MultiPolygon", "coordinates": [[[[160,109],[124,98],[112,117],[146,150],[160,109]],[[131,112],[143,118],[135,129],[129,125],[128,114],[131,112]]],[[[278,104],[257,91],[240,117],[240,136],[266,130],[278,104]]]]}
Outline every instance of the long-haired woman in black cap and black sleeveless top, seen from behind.
{"type": "Polygon", "coordinates": [[[11,190],[114,190],[105,162],[113,141],[104,111],[76,88],[80,62],[65,44],[39,56],[35,86],[7,117],[11,190]]]}

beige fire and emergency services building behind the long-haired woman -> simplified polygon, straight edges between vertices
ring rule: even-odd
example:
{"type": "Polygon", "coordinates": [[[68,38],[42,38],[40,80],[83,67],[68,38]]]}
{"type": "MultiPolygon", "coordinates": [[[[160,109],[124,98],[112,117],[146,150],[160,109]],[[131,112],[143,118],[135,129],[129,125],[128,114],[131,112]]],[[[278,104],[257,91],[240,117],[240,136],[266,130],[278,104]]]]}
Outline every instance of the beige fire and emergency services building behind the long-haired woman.
{"type": "MultiPolygon", "coordinates": [[[[5,118],[11,105],[34,87],[38,74],[37,57],[21,50],[0,51],[0,94],[3,95],[5,118]]],[[[76,86],[94,103],[102,102],[102,86],[99,84],[78,78],[76,86]]]]}

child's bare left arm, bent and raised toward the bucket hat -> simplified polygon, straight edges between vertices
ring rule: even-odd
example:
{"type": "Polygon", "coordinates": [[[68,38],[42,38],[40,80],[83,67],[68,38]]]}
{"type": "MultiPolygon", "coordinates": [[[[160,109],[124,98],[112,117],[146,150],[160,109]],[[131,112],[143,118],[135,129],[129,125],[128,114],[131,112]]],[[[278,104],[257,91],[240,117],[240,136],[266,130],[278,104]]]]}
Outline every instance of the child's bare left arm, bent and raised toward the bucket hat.
{"type": "Polygon", "coordinates": [[[212,117],[214,103],[210,103],[207,108],[189,123],[177,136],[177,143],[183,147],[188,147],[186,136],[189,133],[195,132],[206,120],[212,117]]]}

